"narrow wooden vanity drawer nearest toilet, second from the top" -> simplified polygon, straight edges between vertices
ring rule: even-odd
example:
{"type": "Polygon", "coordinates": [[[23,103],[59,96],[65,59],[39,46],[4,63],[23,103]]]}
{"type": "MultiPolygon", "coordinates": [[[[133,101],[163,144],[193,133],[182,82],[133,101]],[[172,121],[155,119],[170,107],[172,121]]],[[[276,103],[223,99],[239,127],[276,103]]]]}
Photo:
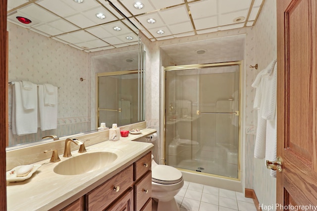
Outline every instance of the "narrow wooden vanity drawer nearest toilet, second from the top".
{"type": "Polygon", "coordinates": [[[152,195],[152,172],[148,173],[134,185],[134,210],[140,211],[152,195]]]}

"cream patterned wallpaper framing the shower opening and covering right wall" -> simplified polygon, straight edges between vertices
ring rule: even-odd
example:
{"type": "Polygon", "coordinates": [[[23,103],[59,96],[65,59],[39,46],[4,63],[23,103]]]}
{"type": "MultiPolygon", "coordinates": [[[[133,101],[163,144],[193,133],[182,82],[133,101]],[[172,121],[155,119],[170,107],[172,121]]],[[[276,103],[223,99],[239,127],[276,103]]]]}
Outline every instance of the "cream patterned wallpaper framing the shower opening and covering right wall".
{"type": "MultiPolygon", "coordinates": [[[[244,55],[245,81],[245,139],[244,143],[244,173],[245,188],[254,189],[260,203],[271,205],[275,203],[275,179],[269,176],[269,171],[264,165],[264,160],[254,159],[254,140],[256,116],[253,110],[253,100],[255,89],[251,86],[258,72],[276,57],[276,2],[266,0],[262,8],[261,15],[254,27],[219,31],[210,34],[196,35],[185,38],[177,38],[158,42],[145,42],[147,50],[147,120],[148,126],[162,126],[160,122],[160,74],[161,62],[167,56],[160,52],[160,46],[183,42],[193,42],[211,38],[220,38],[234,35],[246,35],[246,50],[244,55]],[[250,65],[258,63],[259,69],[249,68],[250,65]],[[150,81],[149,81],[150,80],[150,81]],[[149,92],[148,92],[149,91],[149,92]],[[159,96],[159,97],[158,97],[159,96]],[[149,109],[151,107],[151,109],[149,109]],[[148,110],[150,110],[148,112],[148,110]],[[151,113],[150,113],[151,112],[151,113]]],[[[162,131],[160,129],[160,131],[162,131]]],[[[159,153],[162,156],[162,137],[159,138],[159,153]]]]}

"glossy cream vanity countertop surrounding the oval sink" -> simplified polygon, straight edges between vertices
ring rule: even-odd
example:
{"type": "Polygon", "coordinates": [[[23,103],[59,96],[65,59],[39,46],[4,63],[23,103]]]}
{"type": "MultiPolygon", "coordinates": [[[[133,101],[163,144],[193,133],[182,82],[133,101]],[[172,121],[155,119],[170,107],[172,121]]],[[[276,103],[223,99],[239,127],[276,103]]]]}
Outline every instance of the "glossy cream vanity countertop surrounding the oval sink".
{"type": "MultiPolygon", "coordinates": [[[[57,163],[50,163],[50,159],[34,164],[42,165],[31,178],[22,181],[7,183],[7,210],[8,211],[47,211],[62,209],[74,200],[94,189],[120,170],[128,167],[147,152],[153,144],[132,141],[142,136],[156,132],[155,129],[142,129],[142,134],[129,134],[119,141],[104,141],[86,147],[87,152],[100,148],[106,151],[113,150],[118,158],[108,166],[89,173],[79,175],[60,175],[53,172],[53,168],[60,162],[70,159],[59,156],[57,163]],[[107,149],[106,149],[107,148],[107,149]],[[63,203],[58,206],[60,203],[63,203]],[[57,206],[57,207],[56,207],[57,206]]],[[[72,151],[72,156],[82,155],[72,151]]]]}

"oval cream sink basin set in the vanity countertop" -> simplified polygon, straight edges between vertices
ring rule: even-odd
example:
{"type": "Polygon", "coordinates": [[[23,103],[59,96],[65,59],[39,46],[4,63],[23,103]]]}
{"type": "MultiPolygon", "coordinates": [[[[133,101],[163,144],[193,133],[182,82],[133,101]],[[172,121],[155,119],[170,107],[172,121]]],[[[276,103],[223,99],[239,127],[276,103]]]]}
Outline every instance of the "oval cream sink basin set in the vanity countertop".
{"type": "Polygon", "coordinates": [[[86,152],[60,162],[53,171],[61,175],[88,173],[106,167],[117,158],[114,152],[86,152]]]}

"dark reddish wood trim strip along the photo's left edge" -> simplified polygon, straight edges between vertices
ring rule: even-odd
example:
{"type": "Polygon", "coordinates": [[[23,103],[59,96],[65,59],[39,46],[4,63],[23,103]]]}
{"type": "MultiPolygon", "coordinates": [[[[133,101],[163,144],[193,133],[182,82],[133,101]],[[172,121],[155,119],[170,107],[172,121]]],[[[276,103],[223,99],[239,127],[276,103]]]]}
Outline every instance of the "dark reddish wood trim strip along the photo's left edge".
{"type": "Polygon", "coordinates": [[[0,210],[6,210],[5,143],[8,137],[7,88],[8,72],[6,68],[6,8],[7,1],[0,1],[0,210]]]}

